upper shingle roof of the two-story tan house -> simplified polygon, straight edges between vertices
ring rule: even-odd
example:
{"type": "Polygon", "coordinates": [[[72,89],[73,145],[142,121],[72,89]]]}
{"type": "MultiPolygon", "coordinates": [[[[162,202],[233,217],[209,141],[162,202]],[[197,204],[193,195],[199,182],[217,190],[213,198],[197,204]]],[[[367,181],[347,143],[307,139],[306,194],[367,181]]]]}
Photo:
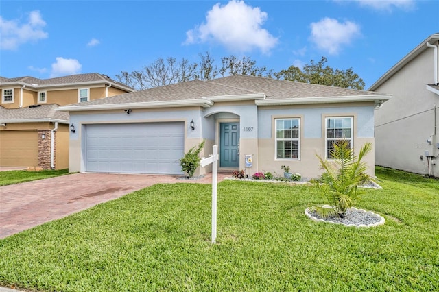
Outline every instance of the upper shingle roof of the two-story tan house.
{"type": "MultiPolygon", "coordinates": [[[[55,77],[49,79],[39,79],[32,76],[14,77],[6,78],[0,77],[0,86],[3,83],[14,83],[21,82],[23,84],[28,84],[29,86],[54,86],[58,84],[81,84],[87,82],[110,82],[112,84],[117,84],[119,86],[130,88],[126,84],[112,80],[109,76],[99,73],[86,73],[86,74],[76,74],[63,77],[55,77]]],[[[130,88],[134,90],[133,88],[130,88]]]]}

